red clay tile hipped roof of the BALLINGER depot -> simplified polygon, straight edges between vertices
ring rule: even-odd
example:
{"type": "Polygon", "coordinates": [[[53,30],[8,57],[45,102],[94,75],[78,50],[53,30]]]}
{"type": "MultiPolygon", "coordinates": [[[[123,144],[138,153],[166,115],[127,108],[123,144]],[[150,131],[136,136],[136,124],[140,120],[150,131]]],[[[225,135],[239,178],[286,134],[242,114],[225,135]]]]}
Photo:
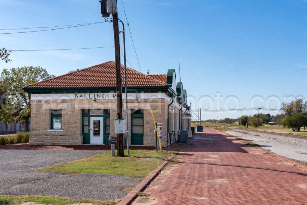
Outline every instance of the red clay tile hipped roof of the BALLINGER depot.
{"type": "MultiPolygon", "coordinates": [[[[124,81],[124,66],[121,65],[122,86],[124,81]]],[[[156,76],[156,75],[155,75],[156,76]]],[[[163,75],[162,75],[163,76],[163,75]]],[[[134,69],[127,67],[127,86],[128,87],[152,87],[167,86],[166,75],[163,77],[152,77],[145,75],[134,69]],[[164,80],[165,78],[165,80],[164,80]]],[[[67,73],[61,76],[50,78],[44,81],[33,83],[25,88],[86,88],[86,87],[115,87],[116,72],[115,61],[108,61],[102,64],[94,65],[89,68],[77,70],[73,73],[67,73]]]]}

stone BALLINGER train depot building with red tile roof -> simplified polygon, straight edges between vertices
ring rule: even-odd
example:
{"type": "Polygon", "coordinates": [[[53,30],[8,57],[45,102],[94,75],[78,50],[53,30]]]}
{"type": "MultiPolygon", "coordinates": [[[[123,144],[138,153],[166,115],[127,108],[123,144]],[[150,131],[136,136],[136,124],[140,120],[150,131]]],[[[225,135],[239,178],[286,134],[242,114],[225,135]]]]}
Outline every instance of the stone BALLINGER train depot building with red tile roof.
{"type": "MultiPolygon", "coordinates": [[[[129,144],[155,146],[155,122],[161,124],[163,147],[177,139],[178,130],[191,135],[187,92],[176,72],[143,74],[127,67],[129,144]]],[[[121,66],[123,93],[124,66],[121,66]]],[[[114,133],[116,108],[115,61],[28,85],[31,94],[29,144],[108,144],[114,133]]],[[[126,119],[125,94],[123,117],[126,119]]],[[[124,134],[125,136],[126,134],[124,134]]]]}

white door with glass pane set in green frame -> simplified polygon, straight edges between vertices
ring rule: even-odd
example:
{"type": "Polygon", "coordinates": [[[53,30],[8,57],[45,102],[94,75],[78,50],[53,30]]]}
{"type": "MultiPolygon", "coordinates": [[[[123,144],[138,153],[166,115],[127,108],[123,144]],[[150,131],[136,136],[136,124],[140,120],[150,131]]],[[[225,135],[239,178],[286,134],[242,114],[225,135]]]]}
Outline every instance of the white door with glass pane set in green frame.
{"type": "Polygon", "coordinates": [[[91,117],[91,144],[103,144],[103,117],[91,117]]]}

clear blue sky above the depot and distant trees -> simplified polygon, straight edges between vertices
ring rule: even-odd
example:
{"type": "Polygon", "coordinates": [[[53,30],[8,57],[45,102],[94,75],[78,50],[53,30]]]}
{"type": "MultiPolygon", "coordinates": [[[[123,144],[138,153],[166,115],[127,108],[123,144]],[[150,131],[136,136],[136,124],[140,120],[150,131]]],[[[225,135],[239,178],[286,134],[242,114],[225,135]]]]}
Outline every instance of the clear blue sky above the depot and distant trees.
{"type": "MultiPolygon", "coordinates": [[[[274,109],[285,99],[306,97],[306,0],[191,2],[123,0],[143,73],[149,69],[150,74],[162,74],[174,68],[179,80],[180,59],[181,79],[193,110],[208,109],[210,99],[211,109],[225,108],[225,101],[226,108],[274,109]]],[[[126,22],[121,1],[118,10],[119,18],[126,22]]],[[[0,18],[2,29],[103,21],[98,0],[0,0],[0,18]]],[[[8,50],[112,45],[113,28],[108,22],[0,34],[0,47],[8,50]]],[[[126,53],[127,60],[140,71],[127,26],[126,53]]],[[[114,60],[114,49],[11,52],[10,58],[10,63],[0,62],[0,71],[40,65],[61,75],[114,60]]],[[[220,119],[254,113],[203,112],[202,116],[220,119]]]]}

